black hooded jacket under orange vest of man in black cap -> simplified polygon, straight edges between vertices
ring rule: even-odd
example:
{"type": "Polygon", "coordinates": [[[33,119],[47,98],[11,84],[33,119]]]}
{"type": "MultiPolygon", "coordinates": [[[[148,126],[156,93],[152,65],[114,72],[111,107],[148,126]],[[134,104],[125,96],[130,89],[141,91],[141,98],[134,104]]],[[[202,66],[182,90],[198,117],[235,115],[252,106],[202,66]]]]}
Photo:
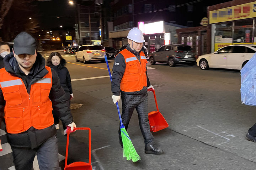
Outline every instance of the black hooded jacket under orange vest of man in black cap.
{"type": "MultiPolygon", "coordinates": [[[[48,70],[45,68],[45,60],[39,53],[37,53],[36,62],[31,69],[31,71],[34,71],[34,74],[32,74],[30,81],[27,80],[28,77],[18,68],[18,63],[12,52],[5,56],[4,64],[8,73],[22,79],[28,94],[30,93],[31,85],[48,73],[48,70]]],[[[73,122],[73,117],[70,112],[69,102],[65,97],[65,92],[60,86],[58,74],[53,69],[52,81],[49,98],[53,103],[53,109],[60,115],[60,120],[62,120],[62,123],[66,126],[73,122]]],[[[0,122],[1,119],[4,119],[4,107],[5,100],[2,90],[0,89],[0,122]]],[[[19,134],[7,133],[7,139],[11,146],[36,148],[54,135],[56,135],[56,129],[53,124],[52,126],[41,130],[31,127],[27,131],[19,134]]]]}

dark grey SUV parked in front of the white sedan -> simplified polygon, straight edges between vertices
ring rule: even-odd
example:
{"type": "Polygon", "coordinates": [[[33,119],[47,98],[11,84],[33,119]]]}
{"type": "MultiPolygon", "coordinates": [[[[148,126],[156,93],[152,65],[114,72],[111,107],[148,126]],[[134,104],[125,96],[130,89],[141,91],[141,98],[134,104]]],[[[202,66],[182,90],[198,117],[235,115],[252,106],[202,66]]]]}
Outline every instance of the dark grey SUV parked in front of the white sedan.
{"type": "Polygon", "coordinates": [[[167,63],[170,67],[176,64],[188,64],[193,66],[196,62],[193,49],[188,45],[169,44],[161,46],[155,52],[149,54],[150,64],[156,62],[167,63]]]}

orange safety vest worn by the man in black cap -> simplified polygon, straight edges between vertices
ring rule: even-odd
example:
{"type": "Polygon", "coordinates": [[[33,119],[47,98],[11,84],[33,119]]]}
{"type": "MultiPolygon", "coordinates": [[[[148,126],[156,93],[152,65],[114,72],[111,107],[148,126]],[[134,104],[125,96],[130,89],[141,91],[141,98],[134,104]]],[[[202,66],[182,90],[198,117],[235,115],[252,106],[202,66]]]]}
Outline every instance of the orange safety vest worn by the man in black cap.
{"type": "Polygon", "coordinates": [[[21,78],[12,76],[5,68],[0,69],[0,88],[4,95],[5,124],[10,134],[27,131],[31,126],[44,129],[54,124],[52,102],[49,99],[52,88],[52,71],[31,85],[28,94],[21,78]]]}

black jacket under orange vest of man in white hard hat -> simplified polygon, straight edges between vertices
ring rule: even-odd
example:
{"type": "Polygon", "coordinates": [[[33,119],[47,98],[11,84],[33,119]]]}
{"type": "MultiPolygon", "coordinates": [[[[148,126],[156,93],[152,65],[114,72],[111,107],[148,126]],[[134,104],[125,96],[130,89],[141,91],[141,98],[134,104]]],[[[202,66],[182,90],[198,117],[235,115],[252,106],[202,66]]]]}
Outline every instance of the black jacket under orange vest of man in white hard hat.
{"type": "MultiPolygon", "coordinates": [[[[127,45],[126,49],[129,52],[133,53],[133,55],[135,55],[140,62],[139,53],[141,50],[139,52],[134,51],[130,48],[130,45],[127,45]]],[[[126,68],[126,62],[124,60],[124,56],[121,53],[118,53],[114,60],[114,65],[113,65],[113,69],[112,69],[113,74],[112,74],[112,81],[111,81],[111,91],[112,91],[113,95],[116,95],[116,96],[120,95],[120,91],[121,91],[120,83],[123,78],[125,68],[126,68]],[[117,65],[115,63],[119,63],[119,64],[117,65]]],[[[149,81],[147,72],[146,72],[146,77],[147,77],[147,87],[149,87],[150,81],[149,81]]],[[[147,87],[143,87],[143,89],[140,91],[133,91],[133,92],[121,91],[121,93],[123,93],[123,94],[145,94],[148,90],[147,87]]]]}

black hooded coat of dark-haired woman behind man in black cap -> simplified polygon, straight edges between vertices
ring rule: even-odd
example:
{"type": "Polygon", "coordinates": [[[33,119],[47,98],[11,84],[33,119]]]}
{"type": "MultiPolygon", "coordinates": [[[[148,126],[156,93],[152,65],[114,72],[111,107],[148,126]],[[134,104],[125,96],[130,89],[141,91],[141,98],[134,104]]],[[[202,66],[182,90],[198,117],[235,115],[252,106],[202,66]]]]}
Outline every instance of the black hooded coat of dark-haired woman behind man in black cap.
{"type": "Polygon", "coordinates": [[[65,65],[66,65],[66,60],[64,58],[62,58],[62,60],[60,61],[60,64],[58,66],[54,66],[52,64],[52,62],[50,62],[50,64],[47,66],[54,69],[58,73],[58,76],[60,79],[60,85],[62,86],[64,91],[72,94],[73,91],[72,91],[72,86],[71,86],[70,74],[69,74],[68,69],[66,67],[64,67],[65,65]]]}

